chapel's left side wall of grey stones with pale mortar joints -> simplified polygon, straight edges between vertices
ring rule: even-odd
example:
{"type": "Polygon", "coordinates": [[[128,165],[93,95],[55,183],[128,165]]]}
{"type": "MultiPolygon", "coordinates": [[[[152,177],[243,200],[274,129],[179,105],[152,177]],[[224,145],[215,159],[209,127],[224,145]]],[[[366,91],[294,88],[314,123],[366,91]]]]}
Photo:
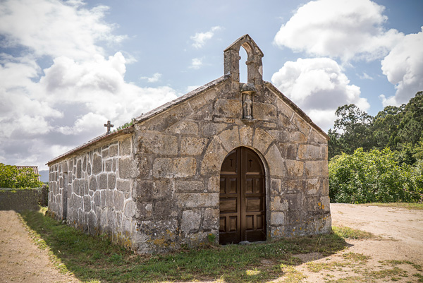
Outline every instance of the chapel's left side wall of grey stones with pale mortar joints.
{"type": "Polygon", "coordinates": [[[133,135],[93,145],[49,167],[49,213],[90,234],[132,245],[133,135]]]}

